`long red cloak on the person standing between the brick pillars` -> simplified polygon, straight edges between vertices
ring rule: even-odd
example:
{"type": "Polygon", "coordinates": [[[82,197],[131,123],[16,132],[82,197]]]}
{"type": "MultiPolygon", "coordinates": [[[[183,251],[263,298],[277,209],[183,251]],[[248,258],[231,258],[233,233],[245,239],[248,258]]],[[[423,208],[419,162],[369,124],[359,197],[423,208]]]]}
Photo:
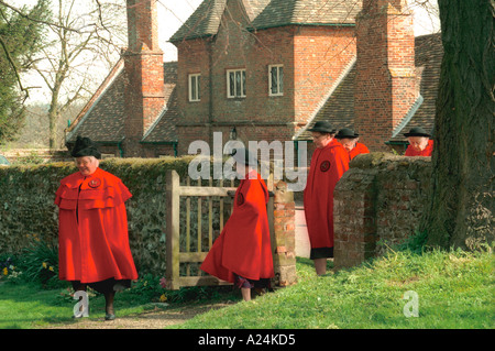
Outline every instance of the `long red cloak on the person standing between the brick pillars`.
{"type": "Polygon", "coordinates": [[[336,139],[316,149],[304,193],[306,226],[311,252],[333,248],[333,189],[349,169],[349,154],[336,139]]]}

